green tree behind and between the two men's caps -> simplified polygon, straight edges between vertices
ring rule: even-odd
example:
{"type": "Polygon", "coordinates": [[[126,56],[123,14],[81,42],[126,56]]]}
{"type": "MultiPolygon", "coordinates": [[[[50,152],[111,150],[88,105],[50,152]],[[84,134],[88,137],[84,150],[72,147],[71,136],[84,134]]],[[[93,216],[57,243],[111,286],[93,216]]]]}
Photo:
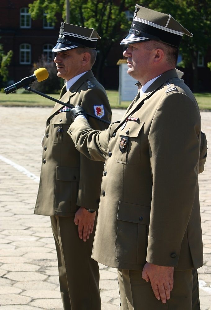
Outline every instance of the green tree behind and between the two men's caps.
{"type": "MultiPolygon", "coordinates": [[[[125,11],[134,11],[133,0],[70,0],[70,23],[94,28],[101,40],[97,43],[98,56],[95,75],[103,82],[103,69],[106,58],[114,42],[120,42],[127,33],[131,21],[125,11]]],[[[65,0],[35,0],[29,4],[33,19],[47,13],[47,21],[55,22],[56,13],[60,12],[65,20],[65,0]]]]}

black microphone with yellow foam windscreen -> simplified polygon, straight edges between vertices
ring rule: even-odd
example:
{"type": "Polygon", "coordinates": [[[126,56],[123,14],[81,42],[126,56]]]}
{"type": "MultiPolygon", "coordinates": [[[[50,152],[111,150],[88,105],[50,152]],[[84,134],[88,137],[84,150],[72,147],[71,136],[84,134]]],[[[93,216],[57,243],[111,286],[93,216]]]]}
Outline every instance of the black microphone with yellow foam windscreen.
{"type": "Polygon", "coordinates": [[[19,82],[8,86],[7,88],[4,88],[4,91],[6,95],[13,93],[13,91],[16,91],[19,88],[24,87],[25,85],[29,85],[30,83],[33,83],[35,81],[42,82],[48,78],[48,72],[45,68],[39,68],[34,71],[34,74],[30,77],[23,78],[19,82]]]}

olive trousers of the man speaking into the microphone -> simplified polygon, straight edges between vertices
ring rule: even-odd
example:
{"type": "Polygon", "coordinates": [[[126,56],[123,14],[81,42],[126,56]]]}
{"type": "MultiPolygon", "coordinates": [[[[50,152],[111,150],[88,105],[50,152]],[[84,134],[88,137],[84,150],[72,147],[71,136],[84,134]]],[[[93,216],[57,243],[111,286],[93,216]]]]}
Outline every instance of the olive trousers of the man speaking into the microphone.
{"type": "Polygon", "coordinates": [[[59,283],[64,310],[100,310],[98,263],[91,259],[95,228],[89,239],[79,238],[74,216],[51,216],[59,283]]]}

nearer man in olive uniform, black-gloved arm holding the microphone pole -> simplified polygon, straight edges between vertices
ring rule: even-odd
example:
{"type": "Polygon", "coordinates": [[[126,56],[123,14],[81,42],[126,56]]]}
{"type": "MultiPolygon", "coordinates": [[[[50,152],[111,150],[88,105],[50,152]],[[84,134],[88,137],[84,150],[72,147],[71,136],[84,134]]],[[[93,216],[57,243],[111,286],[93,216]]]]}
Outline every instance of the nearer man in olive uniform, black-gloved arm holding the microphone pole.
{"type": "Polygon", "coordinates": [[[192,270],[203,265],[200,112],[175,69],[183,34],[171,15],[136,5],[121,44],[139,94],[105,131],[71,111],[76,148],[105,160],[92,258],[118,268],[121,310],[191,310],[192,270]]]}

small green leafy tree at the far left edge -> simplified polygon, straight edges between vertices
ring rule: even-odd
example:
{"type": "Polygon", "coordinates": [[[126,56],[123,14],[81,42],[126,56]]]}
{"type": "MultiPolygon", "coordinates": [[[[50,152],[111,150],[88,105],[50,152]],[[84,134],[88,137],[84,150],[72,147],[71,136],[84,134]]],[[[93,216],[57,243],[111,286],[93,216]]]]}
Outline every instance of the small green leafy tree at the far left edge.
{"type": "Polygon", "coordinates": [[[10,50],[5,54],[3,45],[0,44],[0,88],[3,87],[3,83],[7,82],[8,78],[8,65],[11,62],[13,52],[10,50]]]}

